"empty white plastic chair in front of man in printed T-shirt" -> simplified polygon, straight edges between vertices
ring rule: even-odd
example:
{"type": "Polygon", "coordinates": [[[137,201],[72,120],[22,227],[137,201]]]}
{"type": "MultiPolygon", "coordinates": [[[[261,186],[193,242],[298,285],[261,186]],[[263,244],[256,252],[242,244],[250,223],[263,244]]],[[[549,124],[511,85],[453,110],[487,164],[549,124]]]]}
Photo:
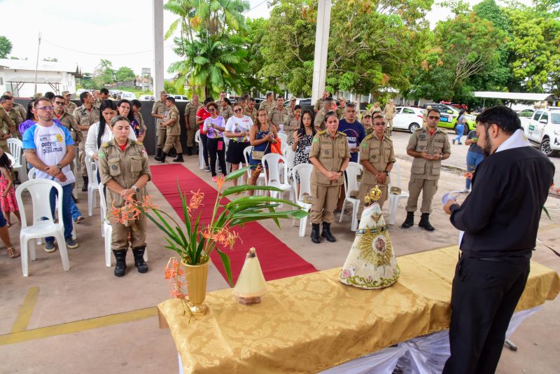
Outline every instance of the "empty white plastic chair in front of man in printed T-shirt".
{"type": "MultiPolygon", "coordinates": [[[[25,209],[20,210],[22,218],[20,246],[24,277],[29,275],[28,249],[31,250],[31,261],[35,261],[37,258],[35,242],[32,239],[41,237],[54,236],[56,238],[58,251],[62,258],[62,268],[64,268],[64,270],[69,270],[70,268],[68,252],[66,251],[66,242],[64,240],[64,223],[62,223],[62,219],[59,219],[58,223],[55,223],[54,217],[52,217],[52,213],[50,212],[50,201],[48,198],[45,198],[45,196],[50,195],[52,188],[56,188],[58,195],[62,196],[62,186],[49,179],[32,179],[20,184],[15,190],[15,199],[18,201],[20,207],[24,207],[22,200],[23,191],[29,191],[31,195],[31,207],[33,209],[31,226],[27,226],[25,209]],[[43,217],[46,219],[43,219],[43,217]],[[29,242],[29,240],[31,241],[29,242]]],[[[62,199],[57,199],[56,205],[58,216],[62,217],[62,199]]]]}

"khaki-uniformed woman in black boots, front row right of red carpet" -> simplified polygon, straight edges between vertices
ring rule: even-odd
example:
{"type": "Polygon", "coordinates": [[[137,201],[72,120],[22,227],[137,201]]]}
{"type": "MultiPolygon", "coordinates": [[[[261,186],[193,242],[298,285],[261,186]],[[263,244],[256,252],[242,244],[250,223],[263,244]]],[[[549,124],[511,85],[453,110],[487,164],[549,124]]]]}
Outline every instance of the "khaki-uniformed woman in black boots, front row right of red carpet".
{"type": "Polygon", "coordinates": [[[350,148],[344,132],[338,130],[338,118],[332,113],[326,120],[327,130],[318,132],[311,141],[309,161],[311,173],[311,242],[320,243],[319,224],[323,222],[322,237],[336,242],[330,233],[330,224],[335,221],[335,208],[344,184],[344,170],[350,160],[350,148]]]}

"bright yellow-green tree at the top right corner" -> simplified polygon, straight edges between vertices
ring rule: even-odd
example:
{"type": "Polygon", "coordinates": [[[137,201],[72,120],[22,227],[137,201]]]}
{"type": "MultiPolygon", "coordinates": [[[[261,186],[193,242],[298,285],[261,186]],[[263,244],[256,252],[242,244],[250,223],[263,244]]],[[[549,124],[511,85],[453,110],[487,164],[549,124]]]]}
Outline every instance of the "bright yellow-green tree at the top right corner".
{"type": "Polygon", "coordinates": [[[516,4],[504,9],[512,33],[508,43],[512,90],[559,92],[559,6],[556,2],[556,8],[546,11],[548,2],[538,1],[534,8],[516,4]]]}

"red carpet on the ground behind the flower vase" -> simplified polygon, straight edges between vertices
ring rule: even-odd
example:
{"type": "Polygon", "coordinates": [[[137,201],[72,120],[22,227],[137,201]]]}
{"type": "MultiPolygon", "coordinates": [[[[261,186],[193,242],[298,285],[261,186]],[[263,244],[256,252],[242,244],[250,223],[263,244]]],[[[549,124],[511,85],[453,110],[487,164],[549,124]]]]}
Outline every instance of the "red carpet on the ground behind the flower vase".
{"type": "MultiPolygon", "coordinates": [[[[177,179],[179,179],[181,191],[187,193],[188,200],[191,196],[190,191],[197,191],[200,188],[200,191],[204,193],[204,205],[198,209],[199,212],[202,212],[200,220],[205,224],[209,223],[217,195],[214,188],[183,165],[157,165],[152,166],[151,171],[153,183],[181,219],[183,218],[183,207],[177,192],[177,179]]],[[[228,184],[230,185],[230,183],[228,184]]],[[[196,217],[199,212],[195,212],[193,217],[196,217]]],[[[281,220],[280,224],[286,226],[291,222],[290,220],[281,220]]],[[[248,223],[244,228],[236,226],[234,230],[239,233],[241,240],[237,240],[234,249],[225,249],[225,253],[230,256],[234,283],[243,267],[245,255],[251,247],[257,249],[260,266],[267,281],[317,271],[313,265],[297,256],[286,244],[283,244],[259,223],[248,223]]],[[[213,251],[211,258],[216,268],[227,280],[218,252],[213,251]]]]}

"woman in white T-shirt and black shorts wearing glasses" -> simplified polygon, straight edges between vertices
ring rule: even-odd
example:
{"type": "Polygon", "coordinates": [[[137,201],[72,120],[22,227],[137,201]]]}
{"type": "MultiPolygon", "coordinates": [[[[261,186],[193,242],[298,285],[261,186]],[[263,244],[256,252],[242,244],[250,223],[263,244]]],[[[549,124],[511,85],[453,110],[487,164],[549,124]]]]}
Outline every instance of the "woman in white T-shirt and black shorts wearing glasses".
{"type": "MultiPolygon", "coordinates": [[[[243,114],[243,107],[241,104],[233,104],[233,117],[228,119],[225,124],[225,136],[230,138],[228,144],[228,155],[225,160],[232,165],[232,172],[239,169],[239,164],[244,161],[243,151],[251,143],[248,141],[249,130],[253,126],[251,117],[243,114]]],[[[244,176],[246,179],[246,176],[244,176]]],[[[237,186],[237,179],[233,179],[234,186],[237,186]]]]}

